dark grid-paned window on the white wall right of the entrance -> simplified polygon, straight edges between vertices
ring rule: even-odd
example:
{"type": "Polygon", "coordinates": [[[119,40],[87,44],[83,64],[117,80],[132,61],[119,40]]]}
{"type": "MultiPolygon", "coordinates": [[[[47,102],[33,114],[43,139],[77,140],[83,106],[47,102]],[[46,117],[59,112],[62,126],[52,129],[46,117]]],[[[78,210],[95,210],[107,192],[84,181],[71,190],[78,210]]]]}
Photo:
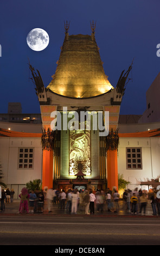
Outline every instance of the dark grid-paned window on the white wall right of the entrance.
{"type": "Polygon", "coordinates": [[[126,148],[126,168],[142,169],[142,148],[126,148]]]}

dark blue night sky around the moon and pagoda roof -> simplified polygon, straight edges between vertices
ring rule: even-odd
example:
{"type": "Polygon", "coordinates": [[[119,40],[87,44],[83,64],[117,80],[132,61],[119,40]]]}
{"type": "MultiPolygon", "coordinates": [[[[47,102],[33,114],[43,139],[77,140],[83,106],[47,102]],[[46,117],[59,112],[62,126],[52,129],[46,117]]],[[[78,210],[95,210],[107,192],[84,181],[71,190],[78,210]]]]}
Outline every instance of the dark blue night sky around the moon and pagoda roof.
{"type": "Polygon", "coordinates": [[[105,74],[116,87],[122,70],[133,61],[130,81],[120,114],[142,114],[145,93],[160,71],[156,46],[160,43],[159,0],[8,0],[0,6],[0,113],[8,102],[21,102],[23,113],[40,113],[34,84],[29,80],[28,58],[41,73],[45,87],[52,80],[60,47],[69,34],[91,34],[90,20],[97,21],[95,39],[105,74]],[[27,45],[27,34],[42,28],[49,35],[48,47],[35,52],[27,45]]]}

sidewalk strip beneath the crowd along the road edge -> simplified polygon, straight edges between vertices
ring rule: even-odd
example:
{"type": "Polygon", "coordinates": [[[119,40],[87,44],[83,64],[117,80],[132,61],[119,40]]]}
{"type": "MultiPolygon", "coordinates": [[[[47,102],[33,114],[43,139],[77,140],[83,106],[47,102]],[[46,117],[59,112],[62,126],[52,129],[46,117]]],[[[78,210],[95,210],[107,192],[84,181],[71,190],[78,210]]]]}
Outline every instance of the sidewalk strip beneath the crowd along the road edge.
{"type": "MultiPolygon", "coordinates": [[[[15,199],[13,203],[5,203],[5,211],[0,211],[0,215],[22,215],[19,213],[19,206],[20,206],[20,199],[15,199]]],[[[80,205],[78,207],[78,211],[77,211],[77,215],[85,215],[85,216],[98,216],[98,217],[105,217],[105,216],[143,216],[143,211],[142,211],[142,215],[139,214],[131,214],[131,212],[128,212],[125,210],[125,205],[123,201],[119,201],[119,211],[118,212],[108,212],[107,211],[107,205],[104,206],[104,212],[97,212],[96,210],[96,206],[95,206],[95,214],[93,215],[86,215],[85,214],[85,206],[84,205],[80,205]]],[[[69,214],[66,210],[61,210],[59,209],[59,205],[52,205],[51,208],[52,212],[48,212],[48,208],[47,208],[47,202],[44,202],[44,209],[43,212],[35,212],[34,215],[72,215],[69,214]]],[[[158,216],[158,213],[156,216],[152,215],[152,207],[151,207],[151,203],[150,200],[148,202],[148,206],[146,207],[146,217],[160,217],[158,216]]],[[[33,214],[28,214],[28,215],[33,215],[33,214]]],[[[72,215],[73,216],[73,215],[72,215]]],[[[145,217],[143,216],[143,217],[145,217]]]]}

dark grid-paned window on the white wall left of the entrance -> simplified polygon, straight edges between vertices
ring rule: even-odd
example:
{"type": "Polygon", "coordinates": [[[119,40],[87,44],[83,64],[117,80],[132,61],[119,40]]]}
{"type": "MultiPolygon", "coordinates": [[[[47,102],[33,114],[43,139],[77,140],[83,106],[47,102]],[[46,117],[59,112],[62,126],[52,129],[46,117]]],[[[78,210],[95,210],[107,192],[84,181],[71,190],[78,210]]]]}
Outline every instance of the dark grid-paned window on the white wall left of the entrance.
{"type": "Polygon", "coordinates": [[[34,148],[18,149],[18,169],[33,169],[34,148]],[[31,154],[28,154],[31,153],[31,154]]]}

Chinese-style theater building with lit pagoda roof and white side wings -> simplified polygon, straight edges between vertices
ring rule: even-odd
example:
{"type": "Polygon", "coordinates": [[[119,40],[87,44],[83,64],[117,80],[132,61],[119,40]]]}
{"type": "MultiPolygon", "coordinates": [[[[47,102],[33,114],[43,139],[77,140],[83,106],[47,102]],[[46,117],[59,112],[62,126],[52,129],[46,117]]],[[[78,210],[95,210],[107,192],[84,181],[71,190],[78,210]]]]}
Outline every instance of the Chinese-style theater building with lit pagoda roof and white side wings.
{"type": "Polygon", "coordinates": [[[3,181],[16,195],[34,179],[41,179],[43,188],[106,190],[118,188],[118,174],[123,174],[131,189],[148,189],[148,183],[142,182],[160,175],[156,109],[149,99],[155,116],[149,122],[144,121],[148,110],[139,116],[119,115],[132,64],[112,86],[103,69],[94,25],[91,28],[91,35],[69,35],[65,26],[60,58],[48,86],[30,64],[40,115],[11,122],[0,114],[3,181]]]}

